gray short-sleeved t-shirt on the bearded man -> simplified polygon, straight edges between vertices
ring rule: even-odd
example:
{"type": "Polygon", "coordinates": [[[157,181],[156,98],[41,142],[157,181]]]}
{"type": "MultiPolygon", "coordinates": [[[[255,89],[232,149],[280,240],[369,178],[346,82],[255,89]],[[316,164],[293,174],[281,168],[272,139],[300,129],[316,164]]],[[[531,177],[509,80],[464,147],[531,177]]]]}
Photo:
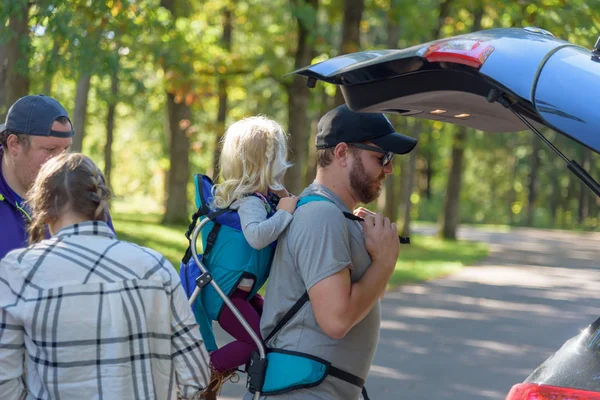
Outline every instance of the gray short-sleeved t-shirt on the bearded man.
{"type": "MultiPolygon", "coordinates": [[[[288,229],[279,237],[267,283],[261,318],[263,337],[294,303],[316,283],[344,268],[358,281],[371,258],[365,248],[362,227],[344,217],[349,210],[331,191],[313,182],[300,197],[325,196],[329,201],[313,201],[294,212],[288,229]]],[[[308,353],[332,365],[366,379],[379,339],[380,303],[340,340],[327,336],[319,327],[310,302],[283,327],[267,345],[283,350],[308,353]]],[[[294,390],[269,399],[358,399],[360,389],[348,382],[328,376],[320,385],[294,390]]],[[[245,399],[251,399],[247,394],[245,399]]]]}

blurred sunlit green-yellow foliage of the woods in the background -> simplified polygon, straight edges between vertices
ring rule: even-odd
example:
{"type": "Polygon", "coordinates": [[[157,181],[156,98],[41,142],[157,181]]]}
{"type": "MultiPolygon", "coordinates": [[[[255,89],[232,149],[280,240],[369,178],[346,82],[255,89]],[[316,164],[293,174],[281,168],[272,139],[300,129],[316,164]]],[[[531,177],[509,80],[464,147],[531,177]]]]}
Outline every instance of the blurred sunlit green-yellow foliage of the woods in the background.
{"type": "MultiPolygon", "coordinates": [[[[0,3],[8,21],[25,0],[0,3]]],[[[82,73],[93,75],[84,152],[102,165],[112,72],[118,70],[119,95],[113,144],[113,187],[123,200],[143,199],[161,211],[171,160],[165,129],[165,91],[190,105],[192,172],[211,168],[217,124],[218,81],[227,80],[225,125],[246,115],[288,119],[284,75],[294,69],[296,18],[311,26],[313,62],[338,54],[343,0],[321,0],[315,11],[305,1],[178,0],[175,15],[160,0],[40,0],[30,12],[31,91],[49,91],[69,110],[82,73]],[[231,49],[222,43],[225,10],[233,15],[231,49]]],[[[483,29],[539,26],[557,37],[590,48],[600,34],[598,0],[366,0],[360,25],[364,49],[387,46],[390,23],[397,24],[398,48],[470,31],[477,10],[483,29]],[[443,5],[449,5],[440,17],[443,5]]],[[[4,24],[6,28],[7,24],[4,24]]],[[[11,35],[6,29],[0,45],[11,35]]],[[[26,70],[26,68],[24,68],[26,70]]],[[[335,87],[319,84],[311,92],[308,118],[315,122],[331,105],[335,87]]],[[[313,123],[314,136],[315,123],[313,123]]],[[[407,125],[410,126],[410,123],[407,125]]],[[[443,208],[446,171],[454,127],[425,122],[417,159],[412,217],[437,221],[443,208]]],[[[583,148],[545,132],[571,158],[583,163],[583,148]]],[[[528,207],[532,134],[470,132],[465,150],[461,217],[467,223],[524,224],[528,207]]],[[[595,197],[546,147],[539,153],[534,224],[590,228],[600,223],[595,197]],[[587,216],[580,220],[581,199],[587,216]]],[[[309,162],[312,162],[309,161],[309,162]]],[[[590,169],[598,177],[600,160],[590,169]]],[[[190,207],[191,207],[190,199],[190,207]]]]}

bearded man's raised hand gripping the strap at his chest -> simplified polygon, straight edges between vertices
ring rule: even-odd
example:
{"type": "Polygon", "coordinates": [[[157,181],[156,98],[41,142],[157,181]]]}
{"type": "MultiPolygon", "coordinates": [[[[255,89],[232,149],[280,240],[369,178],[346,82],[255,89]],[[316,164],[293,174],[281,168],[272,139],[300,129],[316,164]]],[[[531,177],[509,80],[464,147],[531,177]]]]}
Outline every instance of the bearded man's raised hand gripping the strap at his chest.
{"type": "Polygon", "coordinates": [[[365,214],[362,218],[365,246],[371,260],[393,270],[400,252],[396,223],[391,223],[390,219],[384,218],[381,213],[374,216],[365,214]]]}

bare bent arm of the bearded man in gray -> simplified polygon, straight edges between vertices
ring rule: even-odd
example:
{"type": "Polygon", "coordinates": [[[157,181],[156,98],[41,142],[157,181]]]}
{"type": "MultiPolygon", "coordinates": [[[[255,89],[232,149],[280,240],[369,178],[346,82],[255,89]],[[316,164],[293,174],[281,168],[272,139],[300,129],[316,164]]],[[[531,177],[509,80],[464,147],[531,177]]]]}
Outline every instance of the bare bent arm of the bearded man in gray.
{"type": "Polygon", "coordinates": [[[372,263],[361,279],[352,283],[350,270],[345,268],[308,291],[319,326],[333,339],[342,339],[371,311],[384,292],[398,258],[396,224],[381,214],[365,216],[362,224],[372,263]]]}

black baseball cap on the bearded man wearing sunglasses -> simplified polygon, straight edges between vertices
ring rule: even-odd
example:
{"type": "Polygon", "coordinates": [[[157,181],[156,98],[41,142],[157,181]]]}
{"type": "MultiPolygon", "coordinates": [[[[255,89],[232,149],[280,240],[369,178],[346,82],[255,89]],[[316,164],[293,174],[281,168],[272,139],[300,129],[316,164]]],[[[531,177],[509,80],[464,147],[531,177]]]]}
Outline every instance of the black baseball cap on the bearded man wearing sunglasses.
{"type": "Polygon", "coordinates": [[[318,124],[318,149],[337,146],[338,143],[372,142],[385,151],[406,154],[417,144],[417,139],[397,133],[381,113],[351,111],[345,104],[325,114],[318,124]]]}

